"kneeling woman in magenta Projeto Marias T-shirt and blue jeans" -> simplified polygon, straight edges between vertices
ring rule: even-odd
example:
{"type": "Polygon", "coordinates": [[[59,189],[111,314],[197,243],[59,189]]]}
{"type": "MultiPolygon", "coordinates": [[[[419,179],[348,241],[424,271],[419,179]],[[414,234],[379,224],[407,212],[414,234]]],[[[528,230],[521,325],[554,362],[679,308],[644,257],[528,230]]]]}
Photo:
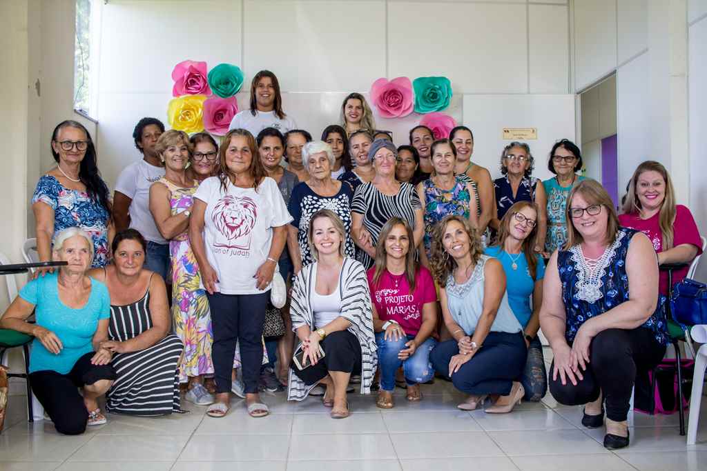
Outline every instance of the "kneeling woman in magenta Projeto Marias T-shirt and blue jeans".
{"type": "Polygon", "coordinates": [[[400,366],[407,382],[407,400],[421,400],[420,383],[435,372],[430,351],[437,323],[437,292],[432,275],[415,260],[412,228],[407,221],[391,217],[385,223],[375,248],[375,266],[368,270],[373,299],[380,363],[380,392],[376,405],[393,407],[395,372],[400,366]]]}

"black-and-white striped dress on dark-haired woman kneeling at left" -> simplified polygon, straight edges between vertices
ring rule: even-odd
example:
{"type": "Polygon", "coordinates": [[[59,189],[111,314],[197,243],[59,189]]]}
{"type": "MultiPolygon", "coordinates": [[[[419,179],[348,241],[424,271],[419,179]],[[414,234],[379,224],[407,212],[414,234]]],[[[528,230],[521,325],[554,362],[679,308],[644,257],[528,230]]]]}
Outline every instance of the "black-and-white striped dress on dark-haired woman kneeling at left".
{"type": "MultiPolygon", "coordinates": [[[[152,327],[150,290],[142,299],[110,306],[110,340],[124,342],[152,327]]],[[[184,345],[169,334],[139,352],[117,353],[112,359],[117,378],[106,395],[106,410],[129,415],[164,415],[180,408],[177,366],[184,345]]]]}

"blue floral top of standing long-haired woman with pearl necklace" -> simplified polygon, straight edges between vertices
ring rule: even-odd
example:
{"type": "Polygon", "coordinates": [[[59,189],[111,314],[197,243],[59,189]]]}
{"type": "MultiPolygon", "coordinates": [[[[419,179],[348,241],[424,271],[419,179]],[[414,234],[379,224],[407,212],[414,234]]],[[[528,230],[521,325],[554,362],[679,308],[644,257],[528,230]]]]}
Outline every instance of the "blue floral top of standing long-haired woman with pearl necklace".
{"type": "Polygon", "coordinates": [[[108,220],[106,208],[86,191],[64,188],[56,177],[43,175],[37,182],[32,204],[41,201],[54,210],[54,233],[66,227],[81,227],[93,239],[93,268],[108,262],[108,220]]]}

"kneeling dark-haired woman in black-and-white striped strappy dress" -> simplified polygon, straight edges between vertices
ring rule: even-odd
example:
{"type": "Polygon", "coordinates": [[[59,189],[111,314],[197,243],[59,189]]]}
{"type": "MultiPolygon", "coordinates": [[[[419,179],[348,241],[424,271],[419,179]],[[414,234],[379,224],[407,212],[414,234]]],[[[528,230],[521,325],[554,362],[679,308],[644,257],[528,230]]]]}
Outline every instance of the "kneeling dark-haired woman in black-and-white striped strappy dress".
{"type": "Polygon", "coordinates": [[[135,229],[118,232],[111,249],[112,265],[89,273],[110,293],[110,340],[100,346],[115,354],[117,378],[105,408],[130,415],[182,412],[177,366],[184,345],[170,334],[165,282],[143,269],[147,242],[135,229]]]}

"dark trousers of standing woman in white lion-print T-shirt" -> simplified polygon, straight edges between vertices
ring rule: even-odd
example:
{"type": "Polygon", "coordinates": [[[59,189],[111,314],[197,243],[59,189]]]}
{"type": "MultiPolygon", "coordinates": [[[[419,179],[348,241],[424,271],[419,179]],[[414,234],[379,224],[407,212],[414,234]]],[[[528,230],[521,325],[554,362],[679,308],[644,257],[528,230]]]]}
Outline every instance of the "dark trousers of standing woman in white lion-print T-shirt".
{"type": "Polygon", "coordinates": [[[206,294],[211,310],[216,393],[230,393],[235,342],[240,347],[240,363],[246,393],[258,392],[260,364],[263,359],[263,323],[270,291],[259,294],[206,294]]]}

